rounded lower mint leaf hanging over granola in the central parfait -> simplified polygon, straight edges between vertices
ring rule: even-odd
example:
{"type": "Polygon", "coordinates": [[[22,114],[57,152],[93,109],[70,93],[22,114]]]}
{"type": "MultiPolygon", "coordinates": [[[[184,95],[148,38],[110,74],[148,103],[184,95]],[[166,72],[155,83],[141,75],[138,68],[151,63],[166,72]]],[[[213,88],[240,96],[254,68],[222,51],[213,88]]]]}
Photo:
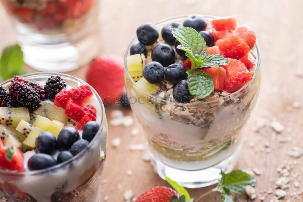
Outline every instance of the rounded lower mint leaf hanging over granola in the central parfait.
{"type": "Polygon", "coordinates": [[[187,84],[190,94],[197,95],[198,98],[205,98],[215,89],[211,76],[199,70],[194,74],[193,70],[186,71],[188,74],[187,84]]]}

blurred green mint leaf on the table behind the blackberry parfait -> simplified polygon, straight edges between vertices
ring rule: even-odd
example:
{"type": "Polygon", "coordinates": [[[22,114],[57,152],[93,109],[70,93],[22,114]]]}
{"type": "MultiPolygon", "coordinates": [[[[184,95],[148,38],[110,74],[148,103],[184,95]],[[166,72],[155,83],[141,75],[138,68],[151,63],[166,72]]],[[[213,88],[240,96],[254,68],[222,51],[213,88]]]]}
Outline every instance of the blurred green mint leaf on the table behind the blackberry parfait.
{"type": "Polygon", "coordinates": [[[0,72],[3,80],[19,75],[23,66],[23,52],[16,44],[6,47],[0,59],[0,72]]]}

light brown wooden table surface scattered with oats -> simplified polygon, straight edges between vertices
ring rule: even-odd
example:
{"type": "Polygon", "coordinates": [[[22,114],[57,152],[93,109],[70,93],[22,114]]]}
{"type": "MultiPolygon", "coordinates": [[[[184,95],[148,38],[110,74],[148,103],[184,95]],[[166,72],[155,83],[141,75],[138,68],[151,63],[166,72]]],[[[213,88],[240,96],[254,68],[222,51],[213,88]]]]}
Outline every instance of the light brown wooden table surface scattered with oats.
{"type": "MultiPolygon", "coordinates": [[[[154,0],[120,1],[102,0],[100,25],[102,28],[102,47],[100,55],[115,54],[123,57],[126,47],[135,36],[138,25],[155,22],[173,15],[200,13],[216,16],[237,15],[239,24],[250,25],[257,33],[257,42],[261,49],[262,82],[261,90],[251,118],[245,127],[245,144],[237,169],[255,169],[262,172],[255,175],[257,198],[255,201],[271,201],[275,196],[275,182],[281,175],[277,168],[286,164],[281,171],[290,178],[287,195],[282,201],[303,201],[303,156],[294,158],[289,154],[293,147],[303,145],[303,106],[293,107],[293,102],[303,104],[303,2],[299,0],[275,1],[198,1],[198,0],[154,0]],[[280,134],[268,124],[277,120],[284,127],[280,134]],[[261,128],[261,126],[264,128],[261,128]],[[260,128],[260,132],[255,131],[260,128]],[[289,167],[288,167],[289,166],[289,167]],[[296,184],[295,181],[299,182],[296,184]],[[272,191],[271,191],[272,190],[272,191]],[[297,196],[296,198],[293,195],[297,196]]],[[[16,42],[15,30],[9,17],[0,7],[0,51],[16,42]]],[[[67,72],[84,79],[87,67],[67,72]]],[[[113,109],[123,110],[131,115],[131,110],[118,105],[106,106],[110,120],[113,109]]],[[[145,143],[142,128],[135,121],[131,127],[108,127],[109,144],[105,170],[102,180],[102,200],[124,201],[123,194],[131,189],[134,197],[145,190],[168,184],[155,174],[149,162],[143,161],[145,151],[130,151],[130,144],[145,143]],[[139,135],[132,136],[133,128],[139,129],[139,135]],[[111,140],[122,139],[121,145],[114,148],[111,140]],[[132,171],[131,175],[127,170],[132,171]],[[104,181],[104,182],[105,182],[104,181]],[[121,188],[118,189],[118,186],[121,188]]],[[[214,186],[200,189],[188,189],[192,197],[197,198],[214,186]]],[[[247,201],[243,194],[236,201],[247,201]]],[[[220,201],[220,194],[213,193],[205,201],[220,201]]]]}

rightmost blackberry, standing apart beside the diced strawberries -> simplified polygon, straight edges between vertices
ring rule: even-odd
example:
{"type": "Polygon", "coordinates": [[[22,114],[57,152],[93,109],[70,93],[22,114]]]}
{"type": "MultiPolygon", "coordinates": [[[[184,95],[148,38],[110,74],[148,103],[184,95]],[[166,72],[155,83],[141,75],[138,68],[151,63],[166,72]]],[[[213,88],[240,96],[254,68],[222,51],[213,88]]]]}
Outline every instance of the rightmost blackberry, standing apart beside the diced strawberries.
{"type": "Polygon", "coordinates": [[[45,83],[44,90],[51,101],[55,101],[55,95],[66,87],[65,81],[60,76],[51,76],[45,83]]]}

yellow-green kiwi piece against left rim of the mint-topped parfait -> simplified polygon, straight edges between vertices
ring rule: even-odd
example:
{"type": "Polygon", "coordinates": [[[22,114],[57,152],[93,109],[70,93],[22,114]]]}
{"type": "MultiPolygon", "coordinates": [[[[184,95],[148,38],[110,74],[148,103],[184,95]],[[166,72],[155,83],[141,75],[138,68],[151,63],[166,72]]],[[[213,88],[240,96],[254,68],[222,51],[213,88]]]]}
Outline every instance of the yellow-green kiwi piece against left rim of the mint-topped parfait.
{"type": "Polygon", "coordinates": [[[140,54],[130,55],[126,58],[127,70],[133,81],[137,82],[143,77],[142,68],[144,65],[140,54]]]}

